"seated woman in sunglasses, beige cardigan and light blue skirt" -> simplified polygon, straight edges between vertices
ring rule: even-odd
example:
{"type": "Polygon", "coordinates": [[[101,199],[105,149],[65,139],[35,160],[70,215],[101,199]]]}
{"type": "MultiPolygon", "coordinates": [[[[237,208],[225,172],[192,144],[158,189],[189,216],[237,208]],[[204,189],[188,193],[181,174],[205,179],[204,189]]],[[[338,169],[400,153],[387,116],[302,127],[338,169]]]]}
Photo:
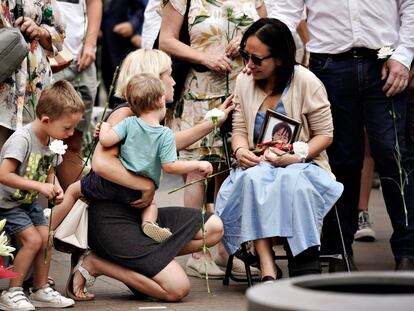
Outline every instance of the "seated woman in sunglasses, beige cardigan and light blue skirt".
{"type": "Polygon", "coordinates": [[[332,142],[330,104],[322,83],[295,62],[295,44],[285,24],[263,18],[243,35],[240,54],[251,75],[240,74],[233,117],[232,147],[239,163],[223,183],[216,213],[224,223],[223,243],[233,254],[253,240],[262,280],[274,280],[272,237],[288,243],[289,274],[320,273],[322,220],[342,193],[330,172],[325,149],[332,142]],[[308,154],[299,158],[277,148],[263,157],[251,148],[267,109],[302,123],[299,140],[308,154]]]}

